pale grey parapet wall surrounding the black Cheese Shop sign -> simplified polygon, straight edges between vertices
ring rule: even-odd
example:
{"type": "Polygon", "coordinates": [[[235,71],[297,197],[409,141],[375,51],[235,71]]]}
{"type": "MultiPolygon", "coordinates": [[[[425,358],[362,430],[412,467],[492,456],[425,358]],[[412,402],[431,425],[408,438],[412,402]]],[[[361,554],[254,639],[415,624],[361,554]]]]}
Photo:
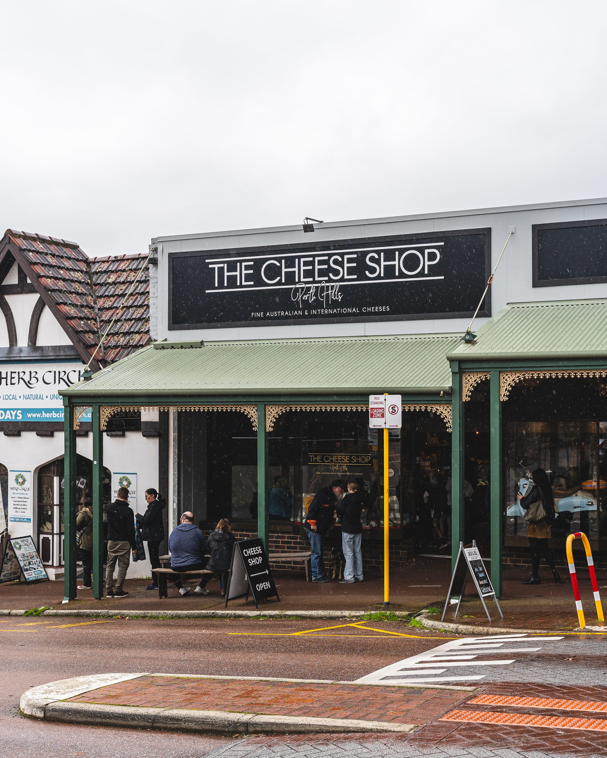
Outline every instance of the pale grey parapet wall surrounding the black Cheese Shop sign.
{"type": "MultiPolygon", "coordinates": [[[[372,321],[357,324],[305,324],[270,327],[230,327],[219,329],[168,330],[168,253],[225,248],[246,248],[285,243],[322,244],[331,240],[348,240],[390,234],[440,233],[490,227],[492,230],[492,266],[498,260],[508,237],[508,228],[516,232],[508,243],[505,257],[492,283],[492,315],[511,302],[591,299],[607,297],[607,284],[532,286],[531,225],[559,221],[582,221],[607,218],[607,199],[546,203],[543,205],[486,208],[454,211],[436,215],[374,218],[363,221],[339,221],[316,225],[313,233],[301,226],[249,229],[219,233],[202,233],[182,237],[159,237],[153,240],[159,258],[158,339],[167,340],[250,340],[288,337],[341,337],[373,334],[441,334],[462,333],[469,319],[439,318],[412,321],[372,321]]],[[[486,318],[475,322],[480,327],[486,318]]]]}

